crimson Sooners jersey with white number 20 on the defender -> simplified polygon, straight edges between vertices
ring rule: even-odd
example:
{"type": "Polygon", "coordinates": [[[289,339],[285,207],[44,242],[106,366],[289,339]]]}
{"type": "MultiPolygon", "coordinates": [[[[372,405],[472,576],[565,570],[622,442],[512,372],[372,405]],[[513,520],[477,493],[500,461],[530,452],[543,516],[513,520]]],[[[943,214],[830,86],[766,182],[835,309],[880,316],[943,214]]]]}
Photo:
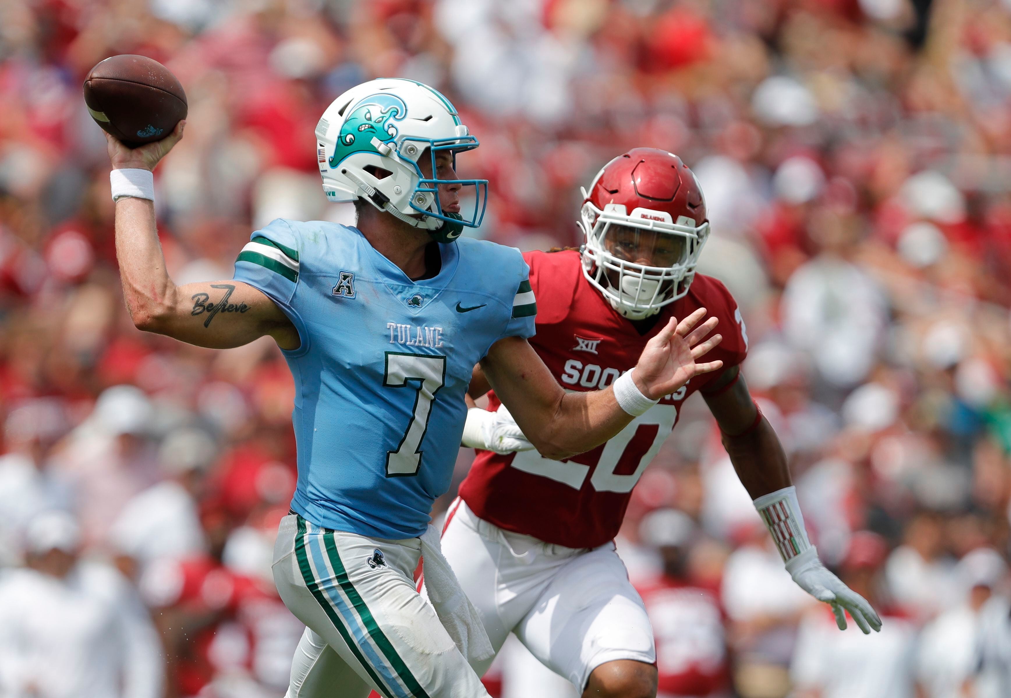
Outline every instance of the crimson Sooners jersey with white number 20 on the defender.
{"type": "MultiPolygon", "coordinates": [[[[737,366],[747,353],[740,311],[726,287],[697,274],[687,295],[660,310],[640,335],[582,275],[579,253],[533,252],[530,285],[537,297],[537,334],[531,345],[558,383],[570,391],[607,388],[635,367],[646,342],[671,315],[682,318],[705,307],[719,318],[723,341],[703,361],[737,366]]],[[[595,547],[618,533],[632,488],[677,422],[677,408],[720,372],[692,379],[676,393],[636,417],[614,438],[565,461],[536,451],[500,456],[479,451],[460,497],[486,521],[567,547],[595,547]]],[[[490,408],[498,408],[494,394],[490,408]]]]}

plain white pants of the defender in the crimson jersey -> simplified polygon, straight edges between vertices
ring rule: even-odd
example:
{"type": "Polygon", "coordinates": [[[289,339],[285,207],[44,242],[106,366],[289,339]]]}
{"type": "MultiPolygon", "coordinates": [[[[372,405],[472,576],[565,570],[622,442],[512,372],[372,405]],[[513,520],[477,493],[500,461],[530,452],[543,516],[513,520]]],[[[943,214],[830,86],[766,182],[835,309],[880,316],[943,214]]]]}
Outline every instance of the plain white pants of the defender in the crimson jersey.
{"type": "MultiPolygon", "coordinates": [[[[442,550],[497,653],[510,632],[575,685],[606,662],[653,664],[653,629],[613,542],[591,550],[546,543],[478,518],[457,499],[442,550]]],[[[484,667],[476,667],[484,674],[484,667]]]]}

